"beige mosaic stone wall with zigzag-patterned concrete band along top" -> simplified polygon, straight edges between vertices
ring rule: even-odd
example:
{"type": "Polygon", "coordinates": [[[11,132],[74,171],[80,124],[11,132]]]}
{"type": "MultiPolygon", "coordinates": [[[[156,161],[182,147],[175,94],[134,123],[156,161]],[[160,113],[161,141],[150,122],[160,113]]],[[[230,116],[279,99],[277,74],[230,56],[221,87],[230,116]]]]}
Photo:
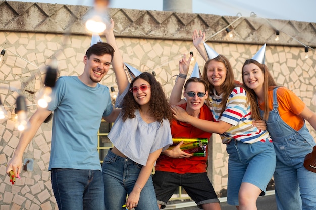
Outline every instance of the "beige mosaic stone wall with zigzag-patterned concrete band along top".
{"type": "MultiPolygon", "coordinates": [[[[0,96],[9,115],[8,120],[0,121],[1,210],[57,209],[47,170],[51,122],[40,127],[25,150],[24,158],[34,159],[33,171],[23,171],[14,186],[5,174],[5,164],[20,136],[14,129],[15,100],[18,94],[24,94],[28,115],[34,113],[35,95],[42,87],[45,67],[53,58],[58,61],[59,75],[82,73],[83,56],[91,41],[82,20],[90,11],[84,6],[0,1],[0,50],[6,49],[0,66],[0,96]]],[[[301,44],[316,46],[316,23],[117,8],[109,13],[116,23],[115,34],[124,61],[142,72],[155,71],[168,95],[184,53],[194,53],[191,71],[195,62],[203,68],[205,62],[191,40],[193,30],[201,29],[206,32],[209,46],[229,59],[240,81],[243,62],[267,43],[266,64],[276,81],[316,111],[316,55],[310,49],[306,59],[301,44]],[[233,38],[226,36],[229,24],[233,38]],[[274,39],[276,28],[281,31],[278,42],[274,39]]],[[[112,69],[101,83],[116,87],[112,69]]],[[[308,128],[315,137],[316,132],[308,128]]],[[[218,135],[214,135],[209,150],[208,175],[220,193],[227,188],[228,156],[218,135]]]]}

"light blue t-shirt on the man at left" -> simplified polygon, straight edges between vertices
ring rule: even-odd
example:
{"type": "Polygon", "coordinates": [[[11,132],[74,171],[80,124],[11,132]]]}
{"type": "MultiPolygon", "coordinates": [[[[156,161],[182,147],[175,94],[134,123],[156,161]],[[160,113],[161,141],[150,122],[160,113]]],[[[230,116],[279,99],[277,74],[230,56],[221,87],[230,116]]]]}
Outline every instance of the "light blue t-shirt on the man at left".
{"type": "Polygon", "coordinates": [[[89,87],[77,76],[62,76],[48,110],[54,111],[48,169],[101,170],[97,132],[102,116],[113,110],[109,88],[89,87]]]}

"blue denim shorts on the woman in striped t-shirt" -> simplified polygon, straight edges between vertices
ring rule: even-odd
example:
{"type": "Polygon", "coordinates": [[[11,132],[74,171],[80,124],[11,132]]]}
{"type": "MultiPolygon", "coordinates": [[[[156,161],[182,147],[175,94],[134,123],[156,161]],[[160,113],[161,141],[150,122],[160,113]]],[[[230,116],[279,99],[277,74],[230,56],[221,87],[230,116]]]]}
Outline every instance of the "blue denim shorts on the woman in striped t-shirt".
{"type": "Polygon", "coordinates": [[[238,193],[243,182],[257,186],[262,191],[260,195],[265,195],[276,168],[273,143],[268,139],[252,144],[232,140],[226,150],[229,154],[227,203],[239,205],[238,193]]]}

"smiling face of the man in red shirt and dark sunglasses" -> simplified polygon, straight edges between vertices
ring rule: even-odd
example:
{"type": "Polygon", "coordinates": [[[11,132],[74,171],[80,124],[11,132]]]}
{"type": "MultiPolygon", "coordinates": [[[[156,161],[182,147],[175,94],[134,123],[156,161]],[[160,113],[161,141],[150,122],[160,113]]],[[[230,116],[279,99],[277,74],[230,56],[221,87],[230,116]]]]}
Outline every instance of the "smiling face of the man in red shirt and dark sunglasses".
{"type": "MultiPolygon", "coordinates": [[[[207,99],[207,91],[205,90],[205,85],[200,82],[190,82],[187,84],[184,92],[184,97],[187,100],[186,111],[190,114],[190,111],[199,111],[204,105],[204,101],[207,99]],[[188,96],[187,93],[194,92],[196,93],[193,97],[188,96]],[[203,97],[198,97],[197,93],[205,93],[203,97]]],[[[190,114],[191,115],[191,114],[190,114]]]]}

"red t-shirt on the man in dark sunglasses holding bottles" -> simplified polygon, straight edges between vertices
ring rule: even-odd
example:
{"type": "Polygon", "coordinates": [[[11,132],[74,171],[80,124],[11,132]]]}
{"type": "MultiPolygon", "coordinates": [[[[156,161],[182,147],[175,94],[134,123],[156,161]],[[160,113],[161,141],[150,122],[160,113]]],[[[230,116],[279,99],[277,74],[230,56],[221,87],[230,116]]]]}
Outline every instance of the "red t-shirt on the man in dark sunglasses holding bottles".
{"type": "MultiPolygon", "coordinates": [[[[179,105],[181,108],[186,109],[186,103],[179,105]]],[[[204,104],[200,110],[200,119],[214,121],[212,113],[209,108],[204,104]]],[[[171,134],[173,138],[210,138],[212,133],[202,131],[191,124],[180,122],[178,120],[172,120],[171,122],[171,134]]],[[[185,173],[204,173],[206,172],[206,157],[191,156],[190,158],[171,158],[166,155],[160,155],[155,170],[174,172],[178,174],[185,173]]]]}

